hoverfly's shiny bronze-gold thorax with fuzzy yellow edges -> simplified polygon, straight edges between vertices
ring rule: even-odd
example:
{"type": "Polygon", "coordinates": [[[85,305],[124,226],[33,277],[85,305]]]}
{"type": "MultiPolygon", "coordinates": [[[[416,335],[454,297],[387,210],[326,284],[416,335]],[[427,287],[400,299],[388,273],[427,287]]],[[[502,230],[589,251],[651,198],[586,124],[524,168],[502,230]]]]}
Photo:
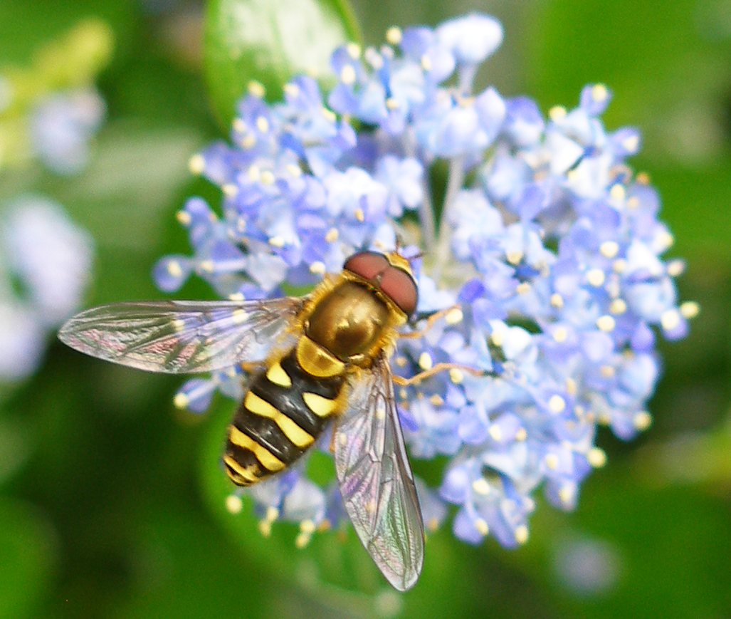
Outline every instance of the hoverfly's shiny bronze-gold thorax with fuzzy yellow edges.
{"type": "Polygon", "coordinates": [[[317,301],[305,323],[306,336],[341,361],[384,348],[406,317],[393,302],[355,275],[345,277],[317,301]]]}

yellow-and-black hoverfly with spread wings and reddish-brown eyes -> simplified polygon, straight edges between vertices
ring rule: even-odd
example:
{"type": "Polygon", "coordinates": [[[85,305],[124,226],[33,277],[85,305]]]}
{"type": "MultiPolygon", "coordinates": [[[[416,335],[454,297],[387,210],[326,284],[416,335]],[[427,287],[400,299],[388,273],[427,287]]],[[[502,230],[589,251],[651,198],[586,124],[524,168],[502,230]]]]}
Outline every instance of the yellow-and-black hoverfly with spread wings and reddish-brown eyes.
{"type": "Polygon", "coordinates": [[[384,576],[406,590],[423,566],[424,526],[388,359],[416,305],[409,260],[359,252],[303,297],[103,305],[58,337],[152,372],[254,369],[223,457],[239,486],[287,468],[332,424],[346,513],[384,576]]]}

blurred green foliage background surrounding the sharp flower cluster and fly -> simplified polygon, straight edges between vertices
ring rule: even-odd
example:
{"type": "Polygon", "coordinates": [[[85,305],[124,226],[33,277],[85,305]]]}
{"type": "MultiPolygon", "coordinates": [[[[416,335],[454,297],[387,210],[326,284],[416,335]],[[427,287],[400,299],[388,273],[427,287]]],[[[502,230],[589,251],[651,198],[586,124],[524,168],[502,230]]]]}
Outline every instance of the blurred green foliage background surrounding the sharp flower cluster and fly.
{"type": "MultiPolygon", "coordinates": [[[[55,338],[79,307],[163,298],[151,267],[189,251],[175,212],[192,194],[216,202],[187,168],[227,133],[208,100],[204,7],[3,0],[0,618],[731,617],[731,2],[353,8],[367,44],[394,24],[491,12],[505,42],[482,85],[544,112],[577,105],[585,83],[613,89],[607,129],[642,130],[632,164],[687,260],[681,297],[701,306],[690,336],[661,346],[653,427],[632,443],[602,429],[608,463],[578,509],[539,499],[518,550],[471,547],[449,526],[431,536],[403,596],[352,531],[303,550],[288,525],[265,539],[251,505],[224,509],[233,402],[193,416],[173,407],[180,378],[55,338]]],[[[211,290],[193,281],[177,296],[211,290]]]]}

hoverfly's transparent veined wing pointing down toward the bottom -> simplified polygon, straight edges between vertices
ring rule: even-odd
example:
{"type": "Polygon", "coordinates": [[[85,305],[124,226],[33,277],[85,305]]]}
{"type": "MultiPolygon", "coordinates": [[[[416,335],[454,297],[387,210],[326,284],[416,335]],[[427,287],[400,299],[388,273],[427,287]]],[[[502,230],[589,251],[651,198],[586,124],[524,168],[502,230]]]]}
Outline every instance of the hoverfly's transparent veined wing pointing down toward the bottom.
{"type": "Polygon", "coordinates": [[[383,575],[404,591],[421,573],[424,525],[385,358],[352,384],[348,409],[335,437],[345,511],[383,575]]]}

